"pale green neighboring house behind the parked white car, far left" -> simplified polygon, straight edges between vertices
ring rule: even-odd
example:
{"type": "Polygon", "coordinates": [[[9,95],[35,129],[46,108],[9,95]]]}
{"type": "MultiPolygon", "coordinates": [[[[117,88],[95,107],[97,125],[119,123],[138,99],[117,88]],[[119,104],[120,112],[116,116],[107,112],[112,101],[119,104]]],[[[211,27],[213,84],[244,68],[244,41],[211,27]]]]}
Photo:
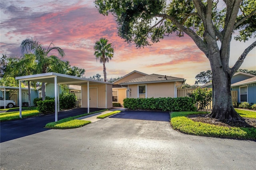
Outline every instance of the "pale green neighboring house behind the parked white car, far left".
{"type": "MultiPolygon", "coordinates": [[[[4,91],[6,91],[6,99],[11,99],[16,102],[16,105],[19,106],[19,87],[3,87],[0,86],[0,96],[4,96],[4,91]],[[14,91],[12,96],[10,97],[10,90],[14,91]]],[[[22,103],[27,103],[28,102],[28,88],[22,88],[21,89],[21,94],[22,94],[22,103]]],[[[34,90],[33,88],[30,89],[30,99],[31,99],[31,106],[34,106],[33,100],[38,97],[38,91],[34,90]]],[[[4,98],[4,97],[3,97],[4,98]]]]}

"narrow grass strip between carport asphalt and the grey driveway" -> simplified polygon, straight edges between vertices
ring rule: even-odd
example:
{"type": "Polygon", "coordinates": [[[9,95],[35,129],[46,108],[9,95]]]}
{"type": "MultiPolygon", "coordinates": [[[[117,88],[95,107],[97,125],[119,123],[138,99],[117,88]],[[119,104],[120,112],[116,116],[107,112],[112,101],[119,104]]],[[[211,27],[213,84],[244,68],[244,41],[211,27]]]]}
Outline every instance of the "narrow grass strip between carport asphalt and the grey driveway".
{"type": "Polygon", "coordinates": [[[82,127],[84,125],[87,125],[87,124],[91,123],[91,121],[78,120],[76,118],[91,115],[91,114],[98,113],[98,112],[104,112],[104,111],[107,111],[107,110],[108,109],[103,109],[103,110],[100,110],[100,111],[95,111],[95,112],[85,113],[85,114],[78,115],[78,116],[68,117],[68,118],[65,118],[65,119],[61,119],[57,122],[50,122],[50,123],[47,123],[45,125],[45,128],[69,129],[69,128],[82,127]]]}

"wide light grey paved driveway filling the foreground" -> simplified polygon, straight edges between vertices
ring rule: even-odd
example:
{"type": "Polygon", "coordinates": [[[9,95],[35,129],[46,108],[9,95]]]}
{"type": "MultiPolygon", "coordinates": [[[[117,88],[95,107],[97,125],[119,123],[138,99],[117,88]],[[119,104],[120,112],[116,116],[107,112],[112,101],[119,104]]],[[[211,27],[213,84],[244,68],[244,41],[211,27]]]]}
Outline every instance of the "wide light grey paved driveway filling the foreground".
{"type": "Polygon", "coordinates": [[[254,170],[255,148],[254,141],[182,134],[167,121],[108,117],[2,142],[0,158],[2,169],[22,170],[254,170]]]}

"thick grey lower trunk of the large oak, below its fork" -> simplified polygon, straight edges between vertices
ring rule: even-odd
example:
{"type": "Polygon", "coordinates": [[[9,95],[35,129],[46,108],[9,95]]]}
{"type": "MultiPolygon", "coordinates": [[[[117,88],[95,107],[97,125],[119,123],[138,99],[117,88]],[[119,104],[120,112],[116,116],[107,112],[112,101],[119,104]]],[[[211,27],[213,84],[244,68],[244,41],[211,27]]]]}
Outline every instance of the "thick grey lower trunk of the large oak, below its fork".
{"type": "Polygon", "coordinates": [[[238,113],[236,113],[231,97],[231,76],[225,73],[223,69],[212,70],[214,81],[214,95],[213,95],[213,108],[208,117],[212,117],[222,121],[228,119],[230,121],[244,120],[238,113]]]}

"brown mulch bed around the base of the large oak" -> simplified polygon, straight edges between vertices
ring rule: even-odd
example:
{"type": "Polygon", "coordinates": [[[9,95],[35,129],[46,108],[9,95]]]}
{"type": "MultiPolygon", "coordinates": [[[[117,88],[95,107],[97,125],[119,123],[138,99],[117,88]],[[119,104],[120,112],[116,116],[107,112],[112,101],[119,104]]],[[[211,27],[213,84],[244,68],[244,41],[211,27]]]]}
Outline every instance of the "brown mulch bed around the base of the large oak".
{"type": "Polygon", "coordinates": [[[209,123],[224,127],[254,127],[256,128],[256,119],[245,118],[244,121],[218,121],[217,119],[208,118],[206,115],[188,115],[188,118],[196,122],[209,123]]]}

